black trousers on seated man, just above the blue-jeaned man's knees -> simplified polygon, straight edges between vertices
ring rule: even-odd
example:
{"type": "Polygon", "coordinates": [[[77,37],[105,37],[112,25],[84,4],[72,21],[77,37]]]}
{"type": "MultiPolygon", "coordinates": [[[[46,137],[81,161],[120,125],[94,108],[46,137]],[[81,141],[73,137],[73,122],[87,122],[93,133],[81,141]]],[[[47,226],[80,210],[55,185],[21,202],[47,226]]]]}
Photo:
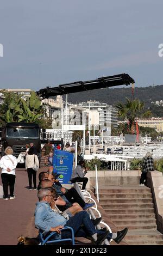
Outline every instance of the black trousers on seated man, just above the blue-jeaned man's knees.
{"type": "Polygon", "coordinates": [[[78,203],[82,208],[85,206],[85,202],[82,199],[82,197],[80,197],[80,195],[78,194],[78,192],[76,191],[76,189],[74,187],[70,188],[70,190],[68,190],[64,196],[67,198],[68,202],[70,203],[78,203]]]}

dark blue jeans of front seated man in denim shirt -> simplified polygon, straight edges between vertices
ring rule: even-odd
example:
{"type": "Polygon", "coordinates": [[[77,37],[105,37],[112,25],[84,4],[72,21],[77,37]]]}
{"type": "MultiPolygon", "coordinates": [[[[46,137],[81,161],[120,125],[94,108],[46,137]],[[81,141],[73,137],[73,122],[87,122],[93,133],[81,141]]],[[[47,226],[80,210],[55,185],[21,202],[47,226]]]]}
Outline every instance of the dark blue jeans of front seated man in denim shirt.
{"type": "MultiPolygon", "coordinates": [[[[92,236],[95,233],[101,234],[103,231],[95,229],[89,215],[86,211],[80,211],[66,222],[65,226],[73,228],[74,236],[76,237],[87,237],[92,236]]],[[[70,231],[62,232],[62,238],[70,237],[70,231]]],[[[109,233],[107,239],[110,240],[112,233],[109,233]]]]}

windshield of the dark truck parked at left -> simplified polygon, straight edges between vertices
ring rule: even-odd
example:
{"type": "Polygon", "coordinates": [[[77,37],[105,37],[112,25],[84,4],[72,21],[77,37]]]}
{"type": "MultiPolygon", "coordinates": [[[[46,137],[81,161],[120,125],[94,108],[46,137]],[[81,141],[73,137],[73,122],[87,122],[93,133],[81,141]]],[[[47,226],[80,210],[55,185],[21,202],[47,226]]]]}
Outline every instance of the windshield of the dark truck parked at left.
{"type": "Polygon", "coordinates": [[[39,138],[39,130],[32,127],[32,128],[23,128],[23,127],[14,127],[14,128],[7,128],[7,138],[39,138]]]}

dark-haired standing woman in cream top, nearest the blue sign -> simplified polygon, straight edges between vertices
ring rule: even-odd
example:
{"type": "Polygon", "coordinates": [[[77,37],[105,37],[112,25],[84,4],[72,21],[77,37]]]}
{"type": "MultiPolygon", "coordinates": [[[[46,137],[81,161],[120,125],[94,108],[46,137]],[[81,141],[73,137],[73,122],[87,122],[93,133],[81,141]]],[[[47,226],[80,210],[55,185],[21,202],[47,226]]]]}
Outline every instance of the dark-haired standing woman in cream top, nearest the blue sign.
{"type": "Polygon", "coordinates": [[[26,169],[28,173],[29,190],[32,190],[32,176],[33,176],[34,190],[37,190],[36,170],[33,169],[34,163],[36,163],[36,165],[39,166],[39,159],[37,155],[34,154],[34,149],[30,148],[28,151],[28,155],[26,156],[26,169]]]}

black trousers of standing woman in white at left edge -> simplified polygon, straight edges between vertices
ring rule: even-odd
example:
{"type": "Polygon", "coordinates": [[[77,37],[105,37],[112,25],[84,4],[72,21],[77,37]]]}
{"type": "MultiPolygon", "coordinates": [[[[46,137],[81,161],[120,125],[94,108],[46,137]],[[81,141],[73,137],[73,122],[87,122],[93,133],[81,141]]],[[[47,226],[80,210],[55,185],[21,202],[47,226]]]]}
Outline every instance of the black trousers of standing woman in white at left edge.
{"type": "Polygon", "coordinates": [[[8,186],[10,187],[10,197],[14,197],[14,185],[15,185],[15,175],[2,173],[1,174],[4,198],[8,198],[8,186]]]}

